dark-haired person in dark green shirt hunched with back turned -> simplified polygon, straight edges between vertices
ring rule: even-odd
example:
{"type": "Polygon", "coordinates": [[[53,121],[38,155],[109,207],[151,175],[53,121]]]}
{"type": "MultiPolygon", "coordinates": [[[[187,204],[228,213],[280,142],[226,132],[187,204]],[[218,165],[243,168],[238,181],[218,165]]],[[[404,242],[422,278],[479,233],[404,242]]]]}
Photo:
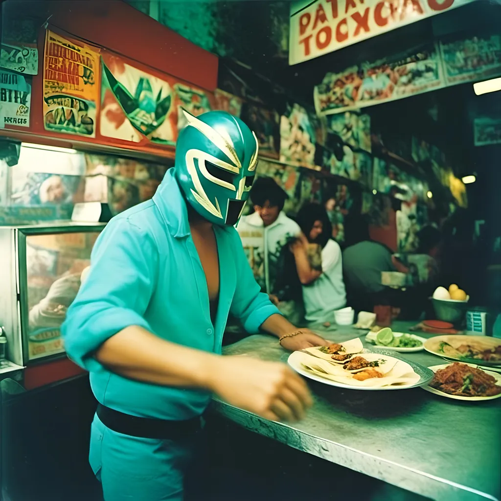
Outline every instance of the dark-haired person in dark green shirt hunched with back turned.
{"type": "Polygon", "coordinates": [[[381,272],[406,273],[384,244],[371,240],[369,224],[362,215],[345,218],[343,273],[348,303],[357,311],[372,312],[375,304],[384,304],[391,291],[381,284],[381,272]],[[382,303],[381,303],[382,301],[382,303]]]}

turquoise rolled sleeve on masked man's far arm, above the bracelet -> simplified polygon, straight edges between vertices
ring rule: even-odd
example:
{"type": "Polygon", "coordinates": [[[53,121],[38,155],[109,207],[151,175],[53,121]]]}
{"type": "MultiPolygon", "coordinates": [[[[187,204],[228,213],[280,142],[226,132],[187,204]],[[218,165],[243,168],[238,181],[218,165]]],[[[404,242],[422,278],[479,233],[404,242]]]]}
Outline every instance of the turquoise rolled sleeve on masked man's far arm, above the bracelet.
{"type": "Polygon", "coordinates": [[[240,320],[249,334],[257,334],[267,318],[281,313],[271,303],[268,295],[261,292],[245,257],[238,233],[235,231],[233,236],[237,279],[230,312],[240,320]]]}

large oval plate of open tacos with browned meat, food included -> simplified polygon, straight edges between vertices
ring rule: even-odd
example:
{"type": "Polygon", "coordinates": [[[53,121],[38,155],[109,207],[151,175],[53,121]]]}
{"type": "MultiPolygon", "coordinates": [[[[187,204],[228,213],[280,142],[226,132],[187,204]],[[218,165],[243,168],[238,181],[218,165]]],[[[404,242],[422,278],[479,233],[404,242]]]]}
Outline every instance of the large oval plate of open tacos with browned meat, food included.
{"type": "Polygon", "coordinates": [[[393,356],[388,351],[364,350],[352,339],[329,346],[296,351],[288,358],[299,374],[321,383],[357,390],[401,390],[428,384],[433,372],[393,356]]]}

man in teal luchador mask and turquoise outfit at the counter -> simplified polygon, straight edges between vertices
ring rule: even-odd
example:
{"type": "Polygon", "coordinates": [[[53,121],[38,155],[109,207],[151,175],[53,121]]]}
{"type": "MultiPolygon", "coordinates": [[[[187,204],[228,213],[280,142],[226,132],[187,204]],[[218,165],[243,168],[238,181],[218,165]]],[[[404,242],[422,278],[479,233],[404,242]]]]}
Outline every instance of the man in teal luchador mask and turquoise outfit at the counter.
{"type": "Polygon", "coordinates": [[[221,357],[228,314],[288,350],[324,344],[260,292],[233,228],[254,180],[256,136],[213,111],[187,125],[152,200],[115,216],[62,327],[99,406],[89,459],[106,501],[180,500],[212,394],[273,420],[311,398],[285,365],[221,357]]]}

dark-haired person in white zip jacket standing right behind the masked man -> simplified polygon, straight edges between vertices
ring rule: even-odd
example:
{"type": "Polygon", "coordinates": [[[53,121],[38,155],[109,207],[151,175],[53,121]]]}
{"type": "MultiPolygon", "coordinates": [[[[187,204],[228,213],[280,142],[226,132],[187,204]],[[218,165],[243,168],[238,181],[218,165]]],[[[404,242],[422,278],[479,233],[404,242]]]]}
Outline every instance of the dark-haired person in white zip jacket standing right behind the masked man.
{"type": "Polygon", "coordinates": [[[301,235],[299,225],[283,212],[287,193],[271,177],[256,179],[249,193],[254,213],[243,216],[236,230],[261,290],[293,323],[303,317],[301,283],[289,244],[301,235]]]}

